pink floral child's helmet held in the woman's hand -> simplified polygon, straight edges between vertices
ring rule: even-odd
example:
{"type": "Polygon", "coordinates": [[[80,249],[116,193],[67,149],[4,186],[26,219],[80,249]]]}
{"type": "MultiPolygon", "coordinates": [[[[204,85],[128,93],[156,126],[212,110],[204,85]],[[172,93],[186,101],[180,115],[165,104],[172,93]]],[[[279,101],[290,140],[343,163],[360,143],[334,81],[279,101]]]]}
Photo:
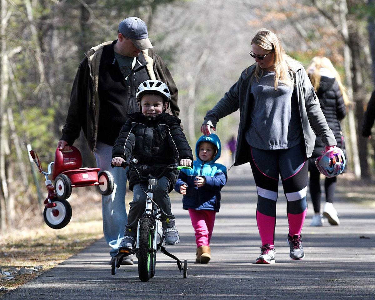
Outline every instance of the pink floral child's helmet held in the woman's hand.
{"type": "Polygon", "coordinates": [[[331,148],[318,157],[315,165],[324,176],[335,177],[344,171],[346,165],[344,152],[338,147],[331,148]]]}

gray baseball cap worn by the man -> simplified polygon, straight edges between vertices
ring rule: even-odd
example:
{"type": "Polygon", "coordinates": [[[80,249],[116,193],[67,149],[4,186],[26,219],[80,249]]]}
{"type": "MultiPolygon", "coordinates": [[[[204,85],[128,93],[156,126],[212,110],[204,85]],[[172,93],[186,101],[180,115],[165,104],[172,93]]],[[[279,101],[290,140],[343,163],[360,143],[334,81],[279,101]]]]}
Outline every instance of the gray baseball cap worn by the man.
{"type": "Polygon", "coordinates": [[[153,48],[148,39],[147,25],[141,19],[129,17],[123,19],[118,24],[118,31],[124,36],[132,40],[134,46],[139,50],[153,48]]]}

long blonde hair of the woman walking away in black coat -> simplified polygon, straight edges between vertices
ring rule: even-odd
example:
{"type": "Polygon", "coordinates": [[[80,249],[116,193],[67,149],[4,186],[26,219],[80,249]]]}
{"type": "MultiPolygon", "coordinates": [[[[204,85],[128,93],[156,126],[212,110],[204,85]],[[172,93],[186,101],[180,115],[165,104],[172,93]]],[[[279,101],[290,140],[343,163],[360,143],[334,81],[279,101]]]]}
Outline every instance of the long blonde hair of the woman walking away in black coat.
{"type": "Polygon", "coordinates": [[[312,86],[314,86],[315,92],[317,92],[319,89],[321,68],[328,69],[335,77],[337,83],[339,84],[340,92],[342,94],[342,98],[344,99],[344,103],[345,105],[348,105],[350,101],[347,94],[347,88],[345,88],[345,86],[341,83],[341,77],[338,71],[336,71],[335,67],[333,67],[332,62],[326,56],[315,56],[313,59],[311,59],[310,65],[306,70],[311,80],[312,86]]]}

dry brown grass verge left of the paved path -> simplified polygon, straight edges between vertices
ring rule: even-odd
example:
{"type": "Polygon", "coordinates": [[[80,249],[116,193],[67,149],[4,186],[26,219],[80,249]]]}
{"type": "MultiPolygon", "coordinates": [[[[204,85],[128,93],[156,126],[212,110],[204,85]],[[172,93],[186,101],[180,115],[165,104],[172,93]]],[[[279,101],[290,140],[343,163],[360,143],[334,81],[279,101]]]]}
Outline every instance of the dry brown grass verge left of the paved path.
{"type": "Polygon", "coordinates": [[[101,196],[91,189],[74,192],[69,198],[72,219],[66,227],[51,229],[40,215],[23,217],[21,229],[9,229],[0,236],[0,270],[11,273],[0,275],[0,286],[17,288],[103,236],[101,196]],[[32,273],[19,275],[21,268],[32,273]]]}

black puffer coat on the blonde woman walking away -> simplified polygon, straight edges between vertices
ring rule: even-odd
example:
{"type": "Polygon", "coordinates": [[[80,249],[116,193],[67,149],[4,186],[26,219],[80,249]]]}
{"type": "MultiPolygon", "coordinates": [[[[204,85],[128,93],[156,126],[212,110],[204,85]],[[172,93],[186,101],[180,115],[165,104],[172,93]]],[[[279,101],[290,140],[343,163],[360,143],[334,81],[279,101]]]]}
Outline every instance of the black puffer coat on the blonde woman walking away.
{"type": "MultiPolygon", "coordinates": [[[[328,126],[335,135],[337,146],[341,148],[345,154],[345,141],[344,135],[342,134],[340,120],[345,117],[346,108],[336,79],[321,76],[317,96],[328,126]]],[[[310,158],[311,162],[314,163],[314,166],[316,158],[322,155],[321,151],[324,151],[324,147],[325,145],[321,138],[317,136],[315,140],[315,148],[310,158]]]]}

